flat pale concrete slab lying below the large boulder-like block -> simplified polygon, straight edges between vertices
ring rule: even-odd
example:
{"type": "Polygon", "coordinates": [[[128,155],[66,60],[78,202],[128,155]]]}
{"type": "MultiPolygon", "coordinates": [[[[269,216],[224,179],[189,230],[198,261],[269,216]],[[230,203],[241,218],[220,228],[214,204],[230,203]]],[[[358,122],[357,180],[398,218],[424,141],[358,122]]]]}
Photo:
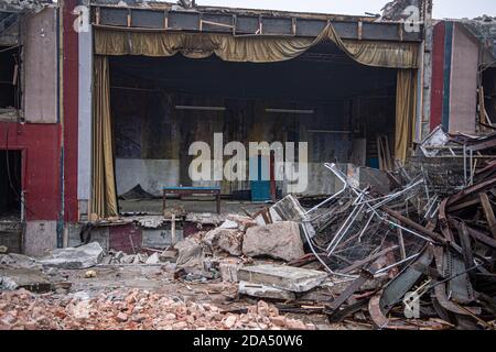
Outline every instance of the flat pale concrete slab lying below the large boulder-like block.
{"type": "Polygon", "coordinates": [[[285,289],[293,293],[305,293],[320,286],[327,273],[301,267],[263,264],[245,266],[238,272],[238,279],[285,289]]]}

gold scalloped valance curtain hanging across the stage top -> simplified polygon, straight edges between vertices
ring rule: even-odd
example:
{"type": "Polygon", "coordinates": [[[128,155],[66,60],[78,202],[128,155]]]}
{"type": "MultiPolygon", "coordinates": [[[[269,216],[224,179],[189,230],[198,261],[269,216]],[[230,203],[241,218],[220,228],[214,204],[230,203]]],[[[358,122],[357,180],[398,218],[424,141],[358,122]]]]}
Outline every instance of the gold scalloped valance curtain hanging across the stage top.
{"type": "Polygon", "coordinates": [[[341,40],[331,23],[315,38],[96,29],[95,53],[144,56],[173,56],[181,53],[190,58],[215,54],[227,62],[274,63],[294,58],[326,40],[364,65],[417,67],[417,43],[341,40]]]}

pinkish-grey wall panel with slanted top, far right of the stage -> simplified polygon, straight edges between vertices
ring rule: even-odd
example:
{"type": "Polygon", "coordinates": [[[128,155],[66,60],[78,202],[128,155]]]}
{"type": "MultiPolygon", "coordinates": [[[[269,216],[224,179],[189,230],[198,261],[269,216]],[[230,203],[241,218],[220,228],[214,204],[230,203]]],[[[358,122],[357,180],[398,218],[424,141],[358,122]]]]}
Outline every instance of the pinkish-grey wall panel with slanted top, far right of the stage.
{"type": "Polygon", "coordinates": [[[451,62],[450,132],[474,133],[476,122],[476,89],[478,43],[455,24],[451,62]]]}

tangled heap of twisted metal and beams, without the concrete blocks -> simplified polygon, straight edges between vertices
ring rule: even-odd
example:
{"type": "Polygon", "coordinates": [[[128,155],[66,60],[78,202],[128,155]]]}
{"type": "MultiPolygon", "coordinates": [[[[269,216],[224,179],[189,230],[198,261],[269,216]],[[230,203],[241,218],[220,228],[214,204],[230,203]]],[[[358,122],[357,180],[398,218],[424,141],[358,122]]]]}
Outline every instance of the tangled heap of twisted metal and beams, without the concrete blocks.
{"type": "Polygon", "coordinates": [[[325,302],[330,321],[395,330],[496,328],[496,136],[441,136],[421,146],[427,157],[453,155],[457,145],[484,160],[466,161],[461,190],[448,197],[435,194],[423,173],[411,177],[400,169],[401,177],[391,175],[400,186],[379,195],[326,165],[344,188],[308,212],[314,257],[301,263],[319,260],[331,276],[349,282],[325,302]],[[312,217],[324,205],[327,210],[312,217]]]}

